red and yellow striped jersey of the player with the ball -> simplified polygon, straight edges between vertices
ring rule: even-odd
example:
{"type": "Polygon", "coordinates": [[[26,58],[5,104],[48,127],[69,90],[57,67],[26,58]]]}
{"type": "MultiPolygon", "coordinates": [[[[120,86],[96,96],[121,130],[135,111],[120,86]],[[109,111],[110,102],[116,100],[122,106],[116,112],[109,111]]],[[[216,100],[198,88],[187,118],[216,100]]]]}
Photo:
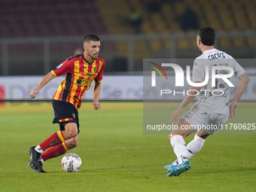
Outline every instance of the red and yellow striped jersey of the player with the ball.
{"type": "Polygon", "coordinates": [[[55,77],[66,74],[53,99],[71,102],[75,108],[80,108],[82,97],[93,80],[102,81],[104,69],[105,60],[100,56],[93,62],[88,62],[84,54],[70,56],[51,71],[55,77]]]}

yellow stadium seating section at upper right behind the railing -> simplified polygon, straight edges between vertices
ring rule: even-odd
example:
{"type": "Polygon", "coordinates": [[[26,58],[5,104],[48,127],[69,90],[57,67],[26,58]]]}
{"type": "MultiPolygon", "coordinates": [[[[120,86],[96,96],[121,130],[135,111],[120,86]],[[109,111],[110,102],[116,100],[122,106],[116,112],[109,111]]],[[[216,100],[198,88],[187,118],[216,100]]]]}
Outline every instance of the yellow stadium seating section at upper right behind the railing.
{"type": "MultiPolygon", "coordinates": [[[[98,0],[97,2],[105,2],[98,0]]],[[[130,5],[133,5],[141,12],[143,23],[141,32],[145,34],[158,34],[169,32],[183,32],[179,17],[184,13],[184,8],[189,6],[197,15],[200,26],[212,26],[217,32],[235,32],[235,31],[252,31],[256,29],[256,2],[251,0],[182,0],[182,1],[153,1],[159,3],[159,11],[148,10],[148,3],[151,0],[120,0],[118,13],[111,9],[112,5],[105,2],[104,8],[99,8],[99,11],[108,14],[111,12],[111,17],[105,17],[106,26],[112,34],[130,34],[133,31],[123,22],[114,21],[113,18],[125,18],[130,5]],[[104,11],[104,9],[109,9],[104,11]],[[126,11],[123,11],[126,10],[126,11]],[[108,21],[107,21],[108,20],[108,21]],[[112,27],[113,26],[113,27],[112,27]],[[120,30],[121,29],[121,30],[120,30]]],[[[100,3],[100,4],[101,4],[100,3]]],[[[99,3],[98,3],[99,5],[99,3]]],[[[191,31],[191,30],[189,30],[191,31]]],[[[195,32],[195,29],[192,29],[195,32]]],[[[181,50],[197,50],[197,45],[194,43],[194,38],[180,38],[177,40],[177,48],[181,50]]],[[[217,42],[220,48],[240,48],[240,47],[255,47],[255,37],[224,37],[219,38],[217,42]]],[[[152,51],[169,49],[171,44],[169,41],[150,40],[142,41],[145,44],[143,52],[151,55],[152,51]]],[[[142,45],[141,45],[142,46],[142,45]]],[[[118,46],[117,46],[118,47],[118,46]]],[[[124,49],[123,49],[124,50],[124,49]]],[[[126,50],[124,50],[126,51],[126,50]]],[[[125,52],[120,51],[120,55],[125,55],[125,52]]]]}

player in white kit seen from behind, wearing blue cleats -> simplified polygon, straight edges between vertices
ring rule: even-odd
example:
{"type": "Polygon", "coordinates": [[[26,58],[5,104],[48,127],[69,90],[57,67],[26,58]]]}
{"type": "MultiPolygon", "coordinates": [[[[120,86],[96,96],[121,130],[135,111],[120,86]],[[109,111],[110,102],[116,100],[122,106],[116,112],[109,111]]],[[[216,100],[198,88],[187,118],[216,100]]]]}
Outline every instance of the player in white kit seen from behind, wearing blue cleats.
{"type": "Polygon", "coordinates": [[[198,86],[207,79],[206,66],[209,68],[209,81],[202,87],[191,86],[189,95],[184,98],[181,105],[170,117],[170,122],[175,123],[184,108],[198,94],[197,102],[178,120],[176,124],[178,129],[172,130],[169,135],[177,160],[165,166],[169,172],[166,176],[178,176],[181,172],[190,169],[191,165],[188,159],[200,151],[206,137],[216,133],[228,117],[236,117],[236,105],[245,92],[249,78],[242,66],[232,56],[215,49],[214,44],[214,29],[201,27],[197,30],[197,46],[202,55],[194,60],[192,81],[198,86]],[[225,66],[232,68],[234,76],[239,78],[239,84],[230,106],[230,81],[224,81],[224,78],[215,78],[215,87],[212,87],[212,66],[219,69],[214,69],[215,75],[230,74],[230,71],[226,70],[227,68],[221,69],[220,67],[225,66]],[[184,138],[195,131],[197,133],[194,139],[186,146],[184,138]]]}

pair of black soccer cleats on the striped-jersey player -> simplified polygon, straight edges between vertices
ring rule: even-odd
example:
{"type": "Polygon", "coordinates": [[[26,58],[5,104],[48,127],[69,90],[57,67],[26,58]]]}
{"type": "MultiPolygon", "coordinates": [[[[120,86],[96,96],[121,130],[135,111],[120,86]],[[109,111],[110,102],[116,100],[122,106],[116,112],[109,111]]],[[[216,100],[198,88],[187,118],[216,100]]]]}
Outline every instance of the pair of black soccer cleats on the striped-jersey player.
{"type": "Polygon", "coordinates": [[[43,170],[43,165],[41,161],[39,161],[39,158],[41,157],[41,154],[35,151],[35,147],[29,148],[29,166],[35,170],[35,172],[45,172],[43,170]]]}

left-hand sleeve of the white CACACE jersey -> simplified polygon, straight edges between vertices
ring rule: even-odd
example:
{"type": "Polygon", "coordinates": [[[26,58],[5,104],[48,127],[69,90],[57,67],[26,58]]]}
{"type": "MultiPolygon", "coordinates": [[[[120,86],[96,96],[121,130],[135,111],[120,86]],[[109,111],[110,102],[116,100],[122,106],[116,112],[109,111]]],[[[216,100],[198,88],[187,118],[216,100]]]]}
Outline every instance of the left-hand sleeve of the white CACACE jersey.
{"type": "Polygon", "coordinates": [[[206,75],[206,68],[203,66],[200,62],[202,59],[195,59],[194,66],[193,66],[193,75],[192,75],[192,81],[196,82],[203,82],[205,80],[206,75]]]}

